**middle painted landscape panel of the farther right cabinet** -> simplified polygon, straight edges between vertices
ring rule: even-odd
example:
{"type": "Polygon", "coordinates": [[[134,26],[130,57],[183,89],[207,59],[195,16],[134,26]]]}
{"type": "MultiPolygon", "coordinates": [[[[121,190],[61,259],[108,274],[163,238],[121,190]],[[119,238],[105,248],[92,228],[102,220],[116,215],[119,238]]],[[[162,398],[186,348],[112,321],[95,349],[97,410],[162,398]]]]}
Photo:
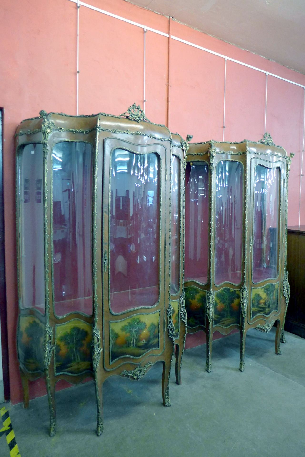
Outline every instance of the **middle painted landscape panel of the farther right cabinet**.
{"type": "Polygon", "coordinates": [[[215,292],[214,297],[214,325],[230,327],[239,324],[241,320],[241,292],[240,290],[223,287],[215,292]]]}

